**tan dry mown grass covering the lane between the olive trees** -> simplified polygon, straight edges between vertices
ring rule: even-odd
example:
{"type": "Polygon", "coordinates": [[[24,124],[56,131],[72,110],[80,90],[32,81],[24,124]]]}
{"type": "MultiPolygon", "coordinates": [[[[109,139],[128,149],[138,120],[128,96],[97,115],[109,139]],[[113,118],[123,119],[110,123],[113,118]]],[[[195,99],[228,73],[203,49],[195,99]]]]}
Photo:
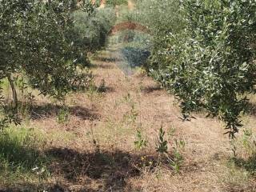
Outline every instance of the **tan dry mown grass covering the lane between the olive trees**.
{"type": "MultiPolygon", "coordinates": [[[[202,114],[182,122],[174,97],[151,78],[126,77],[108,59],[108,51],[101,57],[94,60],[93,72],[97,86],[104,79],[105,92],[70,94],[68,122],[56,121],[59,106],[46,104],[47,99],[37,98],[32,109],[29,126],[46,138],[43,153],[52,159],[50,177],[9,186],[2,181],[2,191],[256,191],[250,174],[229,161],[230,141],[220,122],[202,114]],[[161,126],[170,154],[174,139],[186,142],[179,174],[158,161],[155,143],[161,126]],[[138,128],[148,141],[144,150],[134,147],[138,128]]],[[[245,122],[254,127],[255,118],[246,116],[245,122]]]]}

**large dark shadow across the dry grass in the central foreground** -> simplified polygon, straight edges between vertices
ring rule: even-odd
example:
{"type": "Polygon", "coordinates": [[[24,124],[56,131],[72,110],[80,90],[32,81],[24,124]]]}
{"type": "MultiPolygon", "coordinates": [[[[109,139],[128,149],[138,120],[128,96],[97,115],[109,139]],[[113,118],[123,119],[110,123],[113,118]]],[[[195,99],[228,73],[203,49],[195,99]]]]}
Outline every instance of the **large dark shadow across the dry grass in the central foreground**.
{"type": "Polygon", "coordinates": [[[81,178],[100,181],[102,187],[97,191],[124,191],[129,188],[127,180],[140,176],[142,167],[153,170],[158,163],[157,155],[131,154],[121,150],[81,153],[54,148],[47,154],[54,158],[53,174],[61,174],[74,184],[81,182],[81,178]]]}

